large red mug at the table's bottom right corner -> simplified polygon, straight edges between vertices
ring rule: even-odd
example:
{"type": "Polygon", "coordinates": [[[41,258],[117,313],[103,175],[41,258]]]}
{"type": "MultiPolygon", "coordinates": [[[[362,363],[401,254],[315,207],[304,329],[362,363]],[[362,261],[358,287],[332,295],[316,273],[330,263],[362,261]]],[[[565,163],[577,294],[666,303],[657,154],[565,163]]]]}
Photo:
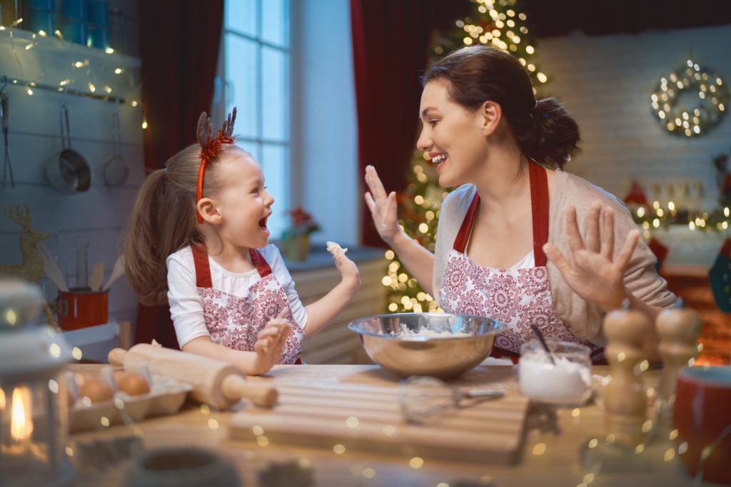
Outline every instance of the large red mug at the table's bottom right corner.
{"type": "Polygon", "coordinates": [[[673,424],[691,475],[731,484],[731,366],[695,366],[678,374],[673,424]]]}

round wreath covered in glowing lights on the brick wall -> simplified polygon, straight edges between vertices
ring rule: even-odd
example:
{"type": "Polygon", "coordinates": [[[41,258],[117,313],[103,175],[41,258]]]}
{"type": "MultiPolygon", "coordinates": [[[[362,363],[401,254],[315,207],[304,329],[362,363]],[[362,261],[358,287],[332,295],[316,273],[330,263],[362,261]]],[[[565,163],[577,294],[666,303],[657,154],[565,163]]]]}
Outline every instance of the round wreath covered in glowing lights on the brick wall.
{"type": "Polygon", "coordinates": [[[701,67],[692,59],[660,78],[651,95],[654,116],[660,126],[673,135],[698,137],[705,135],[723,118],[729,102],[729,89],[721,77],[701,67]],[[697,94],[697,104],[686,108],[681,97],[697,94]]]}

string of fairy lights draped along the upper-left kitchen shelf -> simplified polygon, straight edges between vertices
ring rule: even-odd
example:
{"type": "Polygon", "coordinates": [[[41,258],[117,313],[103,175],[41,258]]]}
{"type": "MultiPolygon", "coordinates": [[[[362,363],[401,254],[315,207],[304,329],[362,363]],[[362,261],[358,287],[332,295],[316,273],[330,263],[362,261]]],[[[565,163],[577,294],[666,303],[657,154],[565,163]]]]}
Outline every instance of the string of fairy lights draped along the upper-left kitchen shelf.
{"type": "MultiPolygon", "coordinates": [[[[69,58],[69,64],[73,69],[72,73],[83,72],[83,77],[86,79],[84,81],[77,81],[74,79],[76,77],[72,75],[71,78],[64,78],[62,80],[47,80],[45,53],[41,50],[41,54],[39,56],[41,58],[39,75],[35,76],[31,80],[4,76],[3,78],[6,85],[25,87],[25,93],[29,97],[32,97],[36,90],[40,88],[58,91],[58,93],[62,94],[91,97],[95,99],[102,99],[107,102],[124,103],[126,100],[118,97],[114,93],[114,89],[110,86],[110,83],[105,83],[105,79],[108,79],[106,78],[106,75],[126,75],[129,80],[130,91],[132,93],[138,92],[140,85],[135,83],[135,69],[137,68],[119,66],[110,67],[110,64],[114,61],[113,58],[110,58],[110,61],[108,62],[91,61],[89,58],[93,58],[94,55],[96,55],[95,51],[100,51],[99,49],[87,46],[86,48],[92,55],[88,57],[80,56],[78,49],[69,48],[69,43],[64,40],[61,31],[58,29],[56,29],[53,33],[48,33],[42,30],[30,32],[18,28],[18,26],[22,23],[23,18],[18,18],[13,21],[10,26],[0,26],[0,34],[5,31],[10,38],[10,46],[13,56],[15,57],[15,61],[20,69],[21,78],[25,78],[25,75],[23,74],[23,62],[21,62],[20,58],[25,56],[26,52],[38,48],[39,42],[53,42],[55,40],[58,44],[53,47],[60,47],[67,58],[69,58]],[[104,76],[105,79],[101,79],[101,76],[104,76]]],[[[115,50],[107,47],[101,52],[111,55],[115,53],[115,50]]],[[[129,100],[129,106],[140,109],[142,119],[140,127],[142,129],[147,129],[147,110],[143,102],[140,99],[132,98],[129,100]]]]}

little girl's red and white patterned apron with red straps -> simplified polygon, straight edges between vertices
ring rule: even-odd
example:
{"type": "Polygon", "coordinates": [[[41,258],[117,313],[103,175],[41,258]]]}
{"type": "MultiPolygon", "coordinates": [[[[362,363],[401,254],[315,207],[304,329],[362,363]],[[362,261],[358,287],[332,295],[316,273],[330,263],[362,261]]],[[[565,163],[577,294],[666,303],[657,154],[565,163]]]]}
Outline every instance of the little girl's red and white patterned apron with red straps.
{"type": "Polygon", "coordinates": [[[270,265],[256,249],[249,249],[261,279],[249,287],[244,298],[213,288],[208,252],[202,244],[192,245],[195,281],[203,301],[205,327],[211,340],[235,350],[254,351],[257,335],[269,320],[287,308],[285,319],[292,325],[284,353],[278,363],[301,363],[302,340],[305,333],[292,316],[287,295],[272,273],[270,265]]]}

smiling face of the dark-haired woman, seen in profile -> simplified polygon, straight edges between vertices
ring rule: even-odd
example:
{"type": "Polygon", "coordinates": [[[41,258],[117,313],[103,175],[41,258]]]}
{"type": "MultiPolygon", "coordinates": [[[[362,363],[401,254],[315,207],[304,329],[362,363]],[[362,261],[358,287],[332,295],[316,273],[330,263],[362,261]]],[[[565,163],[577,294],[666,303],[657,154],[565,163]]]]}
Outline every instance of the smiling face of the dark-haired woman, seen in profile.
{"type": "Polygon", "coordinates": [[[480,111],[469,111],[448,95],[447,80],[426,83],[419,113],[423,129],[417,147],[428,151],[436,164],[439,184],[459,186],[475,181],[477,170],[487,159],[487,143],[480,111]]]}

